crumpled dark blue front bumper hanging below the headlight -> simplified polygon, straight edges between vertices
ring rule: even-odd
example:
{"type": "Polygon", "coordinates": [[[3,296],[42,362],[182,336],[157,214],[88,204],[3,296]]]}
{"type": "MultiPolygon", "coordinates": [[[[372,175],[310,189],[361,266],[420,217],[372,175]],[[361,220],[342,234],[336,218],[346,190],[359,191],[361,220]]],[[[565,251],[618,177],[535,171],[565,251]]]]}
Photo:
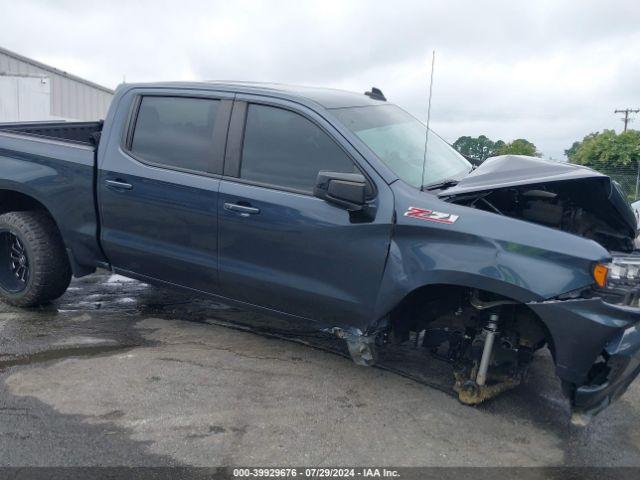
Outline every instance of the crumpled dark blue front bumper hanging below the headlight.
{"type": "Polygon", "coordinates": [[[553,339],[556,373],[575,415],[590,416],[640,373],[640,309],[602,298],[532,303],[553,339]]]}

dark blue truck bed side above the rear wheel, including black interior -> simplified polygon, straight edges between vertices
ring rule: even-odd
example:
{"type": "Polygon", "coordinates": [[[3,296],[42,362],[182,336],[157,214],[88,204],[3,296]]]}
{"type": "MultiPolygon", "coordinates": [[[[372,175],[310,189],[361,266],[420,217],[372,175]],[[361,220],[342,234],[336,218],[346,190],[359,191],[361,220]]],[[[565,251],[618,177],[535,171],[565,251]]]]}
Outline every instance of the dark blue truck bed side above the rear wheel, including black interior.
{"type": "Polygon", "coordinates": [[[40,203],[57,222],[75,272],[102,260],[94,197],[102,122],[0,124],[0,213],[20,207],[11,192],[40,203]]]}

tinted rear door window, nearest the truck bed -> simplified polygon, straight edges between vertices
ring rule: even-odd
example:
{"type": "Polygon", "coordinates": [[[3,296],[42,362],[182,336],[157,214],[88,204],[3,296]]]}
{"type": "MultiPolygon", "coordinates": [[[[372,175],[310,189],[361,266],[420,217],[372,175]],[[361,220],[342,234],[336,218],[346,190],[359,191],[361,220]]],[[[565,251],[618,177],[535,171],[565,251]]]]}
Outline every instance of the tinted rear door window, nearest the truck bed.
{"type": "Polygon", "coordinates": [[[143,161],[206,172],[219,100],[143,97],[131,152],[143,161]]]}

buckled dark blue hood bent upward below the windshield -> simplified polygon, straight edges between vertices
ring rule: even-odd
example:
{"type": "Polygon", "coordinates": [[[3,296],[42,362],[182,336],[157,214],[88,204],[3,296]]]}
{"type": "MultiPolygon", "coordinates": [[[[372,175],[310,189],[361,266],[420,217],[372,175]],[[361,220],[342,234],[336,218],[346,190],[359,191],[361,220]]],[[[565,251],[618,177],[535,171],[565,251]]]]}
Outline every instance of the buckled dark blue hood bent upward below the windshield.
{"type": "Polygon", "coordinates": [[[566,185],[579,197],[593,215],[609,224],[625,237],[635,238],[636,217],[618,185],[610,177],[588,167],[565,162],[543,160],[523,155],[502,155],[485,160],[457,185],[439,192],[451,200],[474,193],[500,191],[506,188],[555,188],[566,185]],[[582,193],[584,190],[584,193],[582,193]]]}

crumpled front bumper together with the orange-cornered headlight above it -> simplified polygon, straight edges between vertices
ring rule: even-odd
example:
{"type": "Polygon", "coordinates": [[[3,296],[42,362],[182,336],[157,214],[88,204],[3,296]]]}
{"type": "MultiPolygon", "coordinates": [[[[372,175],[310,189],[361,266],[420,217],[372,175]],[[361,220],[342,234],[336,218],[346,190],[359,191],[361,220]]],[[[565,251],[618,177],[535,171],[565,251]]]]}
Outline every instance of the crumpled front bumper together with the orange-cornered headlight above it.
{"type": "Polygon", "coordinates": [[[556,371],[584,424],[640,373],[640,255],[594,266],[593,288],[531,303],[554,339],[556,371]]]}

